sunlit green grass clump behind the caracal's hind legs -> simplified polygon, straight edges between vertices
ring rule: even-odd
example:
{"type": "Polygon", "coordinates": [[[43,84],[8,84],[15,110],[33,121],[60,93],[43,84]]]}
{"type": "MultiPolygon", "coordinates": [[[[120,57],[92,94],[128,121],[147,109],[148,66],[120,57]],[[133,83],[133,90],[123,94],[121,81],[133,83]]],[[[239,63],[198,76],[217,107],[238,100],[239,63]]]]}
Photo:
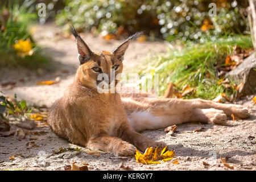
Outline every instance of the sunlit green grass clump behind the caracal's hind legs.
{"type": "MultiPolygon", "coordinates": [[[[159,93],[163,95],[169,82],[173,82],[181,90],[189,84],[196,87],[196,93],[185,98],[213,99],[221,93],[236,94],[233,88],[218,85],[222,77],[216,75],[216,65],[224,66],[227,55],[232,54],[233,47],[239,45],[242,49],[253,47],[250,36],[237,35],[205,40],[204,43],[188,43],[181,51],[170,50],[164,55],[151,57],[142,65],[134,68],[141,79],[150,73],[159,74],[159,93]]],[[[231,83],[232,84],[232,83],[231,83]]]]}

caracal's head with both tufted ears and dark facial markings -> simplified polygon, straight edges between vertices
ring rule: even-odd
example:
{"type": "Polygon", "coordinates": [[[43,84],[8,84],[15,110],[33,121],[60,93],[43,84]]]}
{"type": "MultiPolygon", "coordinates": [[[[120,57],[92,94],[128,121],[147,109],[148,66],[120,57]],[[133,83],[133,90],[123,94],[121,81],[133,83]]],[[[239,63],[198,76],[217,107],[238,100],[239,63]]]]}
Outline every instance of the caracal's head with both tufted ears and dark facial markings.
{"type": "Polygon", "coordinates": [[[123,69],[122,61],[125,51],[131,40],[142,34],[139,32],[130,36],[112,52],[96,52],[90,50],[73,26],[71,26],[71,32],[76,38],[78,60],[80,63],[77,76],[81,84],[89,86],[90,88],[98,88],[102,80],[108,82],[108,85],[117,85],[118,77],[120,77],[123,69]],[[108,79],[106,79],[106,77],[108,77],[108,79]]]}

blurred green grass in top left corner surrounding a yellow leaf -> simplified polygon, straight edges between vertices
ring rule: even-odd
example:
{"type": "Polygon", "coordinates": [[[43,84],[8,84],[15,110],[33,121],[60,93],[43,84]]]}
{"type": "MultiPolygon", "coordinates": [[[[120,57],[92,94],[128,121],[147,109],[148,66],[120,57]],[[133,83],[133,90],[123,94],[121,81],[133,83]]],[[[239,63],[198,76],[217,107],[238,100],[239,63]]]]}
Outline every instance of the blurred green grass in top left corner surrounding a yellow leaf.
{"type": "Polygon", "coordinates": [[[34,1],[24,1],[22,5],[0,3],[0,67],[36,69],[48,64],[48,58],[36,46],[28,31],[29,24],[36,19],[36,14],[30,8],[32,2],[34,1]],[[30,40],[31,55],[18,55],[13,47],[18,40],[30,40]]]}

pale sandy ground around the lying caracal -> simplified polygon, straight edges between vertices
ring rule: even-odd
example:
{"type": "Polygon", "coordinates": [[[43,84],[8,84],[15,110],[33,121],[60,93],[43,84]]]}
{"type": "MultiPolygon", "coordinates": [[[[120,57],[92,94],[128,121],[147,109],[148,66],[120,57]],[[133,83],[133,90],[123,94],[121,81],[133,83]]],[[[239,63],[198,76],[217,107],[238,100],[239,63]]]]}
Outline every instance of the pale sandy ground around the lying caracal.
{"type": "MultiPolygon", "coordinates": [[[[38,26],[34,36],[44,46],[46,53],[53,56],[53,67],[56,70],[39,70],[36,74],[27,71],[17,74],[16,71],[3,70],[9,73],[3,74],[1,82],[18,81],[20,78],[25,81],[17,82],[15,88],[0,90],[7,96],[16,93],[18,98],[32,104],[50,106],[73,81],[78,66],[75,41],[59,36],[59,29],[52,24],[38,26]],[[38,81],[54,80],[58,76],[61,78],[58,84],[36,85],[38,81]]],[[[93,50],[111,51],[121,43],[121,40],[106,42],[90,34],[82,34],[82,38],[93,50]]],[[[133,67],[138,61],[166,49],[167,46],[162,42],[133,42],[126,52],[125,67],[133,67]]],[[[162,164],[144,165],[137,163],[134,156],[118,158],[107,152],[88,152],[87,148],[57,137],[47,126],[36,127],[34,130],[22,129],[26,138],[20,139],[14,134],[18,127],[12,124],[9,133],[0,134],[0,170],[64,170],[64,166],[72,162],[86,164],[89,170],[123,170],[127,166],[134,170],[232,170],[224,167],[220,157],[228,157],[227,163],[232,164],[236,170],[255,170],[256,105],[253,105],[253,97],[243,97],[236,103],[250,109],[249,119],[230,119],[224,125],[185,123],[177,127],[173,137],[166,135],[163,129],[142,132],[151,139],[166,142],[170,150],[175,150],[174,160],[177,159],[179,164],[173,164],[171,160],[162,164]],[[204,130],[191,133],[201,128],[204,130]],[[60,147],[79,147],[81,150],[55,154],[53,151],[58,151],[60,147]],[[14,159],[9,159],[11,156],[14,159]],[[209,165],[205,166],[203,162],[209,165]]]]}

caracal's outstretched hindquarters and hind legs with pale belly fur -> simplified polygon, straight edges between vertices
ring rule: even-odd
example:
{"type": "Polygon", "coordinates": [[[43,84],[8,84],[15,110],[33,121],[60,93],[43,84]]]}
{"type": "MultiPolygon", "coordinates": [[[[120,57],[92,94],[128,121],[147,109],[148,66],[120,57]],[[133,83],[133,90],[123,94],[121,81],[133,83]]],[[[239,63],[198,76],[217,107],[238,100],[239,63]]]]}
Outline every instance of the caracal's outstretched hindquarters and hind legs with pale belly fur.
{"type": "Polygon", "coordinates": [[[135,131],[160,129],[189,121],[221,124],[232,114],[239,118],[249,117],[248,109],[240,105],[201,99],[125,97],[122,103],[135,131]]]}

